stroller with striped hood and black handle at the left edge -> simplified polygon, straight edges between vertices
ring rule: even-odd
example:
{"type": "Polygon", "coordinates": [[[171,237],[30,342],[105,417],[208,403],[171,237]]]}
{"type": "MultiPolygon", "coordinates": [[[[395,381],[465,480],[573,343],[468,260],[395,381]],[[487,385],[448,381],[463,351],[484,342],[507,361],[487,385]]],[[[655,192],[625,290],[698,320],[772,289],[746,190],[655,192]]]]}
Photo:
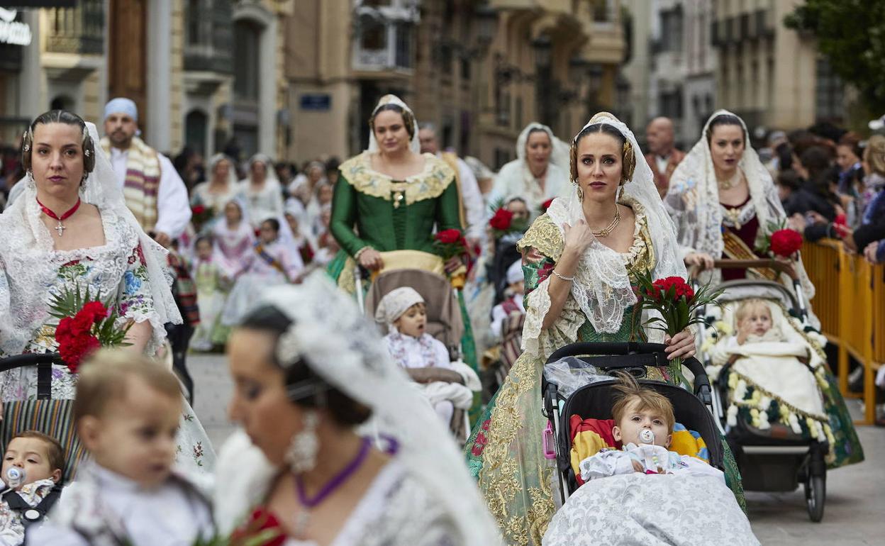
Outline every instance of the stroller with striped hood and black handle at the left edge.
{"type": "Polygon", "coordinates": [[[73,400],[53,400],[51,394],[52,365],[63,364],[58,353],[27,353],[0,358],[0,372],[35,365],[37,367],[36,400],[13,400],[3,404],[0,421],[0,445],[5,449],[15,434],[36,430],[50,435],[65,450],[65,468],[61,483],[73,480],[86,451],[73,427],[73,400]]]}

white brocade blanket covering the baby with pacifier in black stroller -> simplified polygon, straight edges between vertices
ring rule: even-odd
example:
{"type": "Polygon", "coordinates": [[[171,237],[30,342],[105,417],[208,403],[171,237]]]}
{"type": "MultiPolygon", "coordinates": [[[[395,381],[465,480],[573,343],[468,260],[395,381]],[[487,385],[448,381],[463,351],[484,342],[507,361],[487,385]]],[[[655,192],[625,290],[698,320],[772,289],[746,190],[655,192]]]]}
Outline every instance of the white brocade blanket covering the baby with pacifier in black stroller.
{"type": "Polygon", "coordinates": [[[758,544],[716,477],[629,473],[589,481],[553,516],[543,546],[758,544]]]}

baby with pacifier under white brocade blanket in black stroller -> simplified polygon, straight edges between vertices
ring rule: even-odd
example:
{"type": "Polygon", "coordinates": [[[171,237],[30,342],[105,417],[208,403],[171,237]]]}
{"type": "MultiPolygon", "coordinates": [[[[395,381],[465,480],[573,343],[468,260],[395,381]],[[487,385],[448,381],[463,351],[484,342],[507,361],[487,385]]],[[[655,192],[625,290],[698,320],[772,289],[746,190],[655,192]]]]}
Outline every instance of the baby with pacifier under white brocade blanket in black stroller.
{"type": "Polygon", "coordinates": [[[543,546],[758,544],[724,474],[666,449],[670,400],[626,374],[614,388],[612,434],[624,448],[581,461],[587,482],[550,521],[543,546]]]}

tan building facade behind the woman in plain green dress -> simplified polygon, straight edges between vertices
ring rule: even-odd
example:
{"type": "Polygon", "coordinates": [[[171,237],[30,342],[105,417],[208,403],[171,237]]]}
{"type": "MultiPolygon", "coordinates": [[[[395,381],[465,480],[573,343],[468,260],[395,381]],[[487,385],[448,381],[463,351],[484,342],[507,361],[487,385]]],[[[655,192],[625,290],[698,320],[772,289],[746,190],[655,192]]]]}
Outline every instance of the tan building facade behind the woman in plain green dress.
{"type": "Polygon", "coordinates": [[[500,166],[528,122],[614,110],[620,0],[304,0],[287,21],[289,158],[350,156],[395,93],[443,147],[500,166]]]}

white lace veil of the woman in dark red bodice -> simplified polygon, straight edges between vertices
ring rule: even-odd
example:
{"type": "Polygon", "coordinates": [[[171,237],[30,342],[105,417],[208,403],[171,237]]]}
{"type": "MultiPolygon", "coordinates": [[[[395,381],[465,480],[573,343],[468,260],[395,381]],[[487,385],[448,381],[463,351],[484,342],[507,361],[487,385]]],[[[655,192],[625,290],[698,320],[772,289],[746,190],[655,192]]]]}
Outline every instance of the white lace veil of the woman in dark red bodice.
{"type": "MultiPolygon", "coordinates": [[[[750,145],[750,131],[739,116],[727,110],[713,112],[704,124],[701,138],[682,159],[670,178],[670,189],[665,197],[668,211],[679,227],[681,254],[691,250],[704,252],[713,258],[722,255],[725,248],[722,241],[722,209],[719,199],[719,183],[713,169],[710,144],[707,132],[713,119],[721,115],[734,116],[743,127],[743,157],[738,167],[743,171],[750,188],[750,200],[756,210],[759,229],[767,229],[769,222],[786,218],[781,199],[777,195],[771,173],[759,160],[756,150],[750,145]]],[[[807,299],[814,297],[814,286],[805,273],[801,260],[797,264],[807,299]]],[[[701,276],[701,281],[717,284],[721,281],[721,271],[713,269],[701,276]]],[[[810,309],[810,307],[809,307],[810,309]]]]}

